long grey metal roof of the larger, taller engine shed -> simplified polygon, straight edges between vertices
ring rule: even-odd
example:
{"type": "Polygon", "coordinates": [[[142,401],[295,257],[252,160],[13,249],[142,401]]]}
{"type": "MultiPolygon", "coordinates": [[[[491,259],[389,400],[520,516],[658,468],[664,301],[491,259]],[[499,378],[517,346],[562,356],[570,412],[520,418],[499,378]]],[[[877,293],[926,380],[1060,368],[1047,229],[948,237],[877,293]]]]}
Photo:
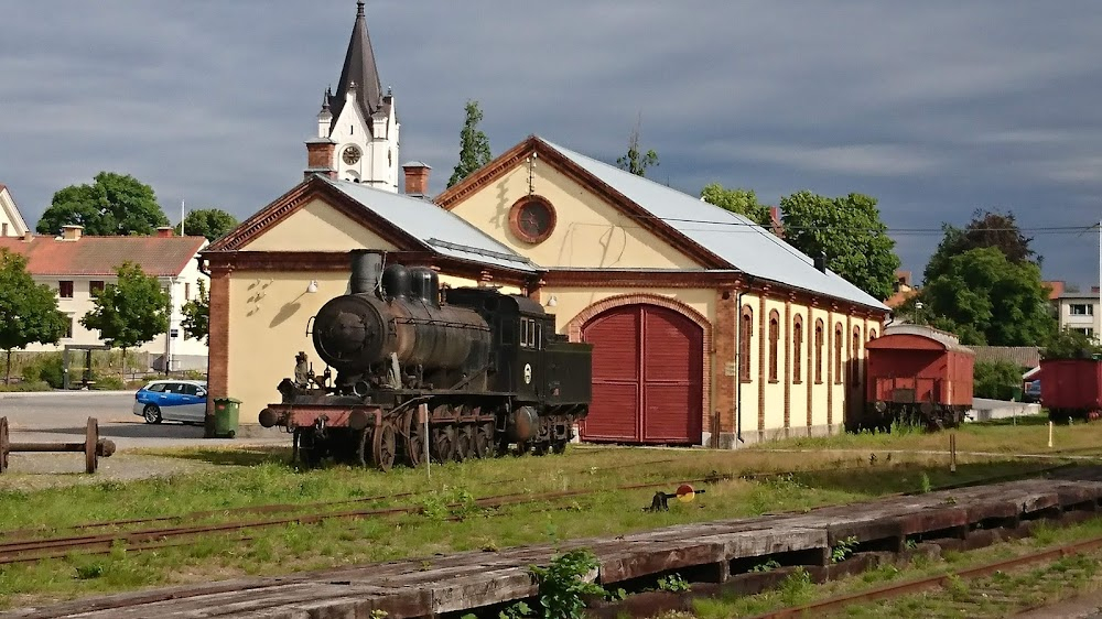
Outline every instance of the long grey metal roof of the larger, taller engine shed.
{"type": "Polygon", "coordinates": [[[540,138],[550,148],[732,267],[754,275],[882,311],[889,307],[742,215],[702,202],[540,138]]]}

